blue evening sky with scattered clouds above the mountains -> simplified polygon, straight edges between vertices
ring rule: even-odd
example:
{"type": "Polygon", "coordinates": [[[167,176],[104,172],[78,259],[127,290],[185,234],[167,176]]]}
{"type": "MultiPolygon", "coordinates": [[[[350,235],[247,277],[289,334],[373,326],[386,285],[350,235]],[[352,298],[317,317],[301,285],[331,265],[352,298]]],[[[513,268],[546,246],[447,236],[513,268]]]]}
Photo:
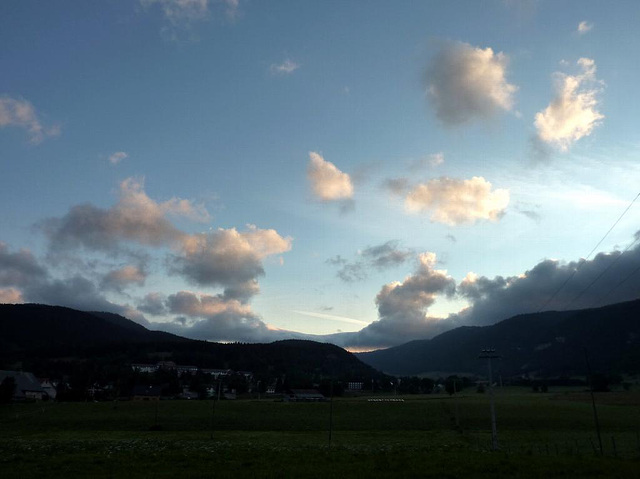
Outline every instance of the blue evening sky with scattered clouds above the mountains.
{"type": "Polygon", "coordinates": [[[359,351],[636,299],[639,15],[1,2],[0,302],[359,351]]]}

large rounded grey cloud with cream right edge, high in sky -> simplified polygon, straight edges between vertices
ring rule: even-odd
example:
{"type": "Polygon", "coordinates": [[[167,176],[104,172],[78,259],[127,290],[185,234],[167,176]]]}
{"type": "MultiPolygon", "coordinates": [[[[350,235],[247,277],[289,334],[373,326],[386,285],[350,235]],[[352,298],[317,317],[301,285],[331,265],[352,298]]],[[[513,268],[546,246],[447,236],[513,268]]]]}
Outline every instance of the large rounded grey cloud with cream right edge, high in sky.
{"type": "Polygon", "coordinates": [[[447,126],[489,118],[513,107],[517,87],[508,83],[507,56],[491,48],[448,43],[427,68],[427,94],[447,126]]]}

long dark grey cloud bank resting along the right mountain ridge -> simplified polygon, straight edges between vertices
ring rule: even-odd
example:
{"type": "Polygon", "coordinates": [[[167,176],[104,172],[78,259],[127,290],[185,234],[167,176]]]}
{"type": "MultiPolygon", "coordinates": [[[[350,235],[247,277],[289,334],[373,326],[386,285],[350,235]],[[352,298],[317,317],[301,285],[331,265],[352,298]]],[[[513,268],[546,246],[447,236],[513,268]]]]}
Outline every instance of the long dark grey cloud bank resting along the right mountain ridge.
{"type": "Polygon", "coordinates": [[[547,259],[506,278],[470,273],[458,292],[471,304],[456,317],[463,324],[480,326],[540,310],[583,309],[637,299],[640,288],[633,278],[639,270],[640,246],[636,246],[600,253],[591,260],[547,259]]]}

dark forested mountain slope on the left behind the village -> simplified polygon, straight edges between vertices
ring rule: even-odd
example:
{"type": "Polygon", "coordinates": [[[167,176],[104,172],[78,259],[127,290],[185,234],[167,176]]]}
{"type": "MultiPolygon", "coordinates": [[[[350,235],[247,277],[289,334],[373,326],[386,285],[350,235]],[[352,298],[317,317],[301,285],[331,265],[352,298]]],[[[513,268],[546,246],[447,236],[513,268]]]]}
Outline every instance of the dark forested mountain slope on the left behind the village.
{"type": "Polygon", "coordinates": [[[20,364],[45,374],[53,369],[68,371],[71,363],[83,361],[113,368],[160,359],[252,371],[265,377],[381,376],[333,344],[305,340],[220,344],[150,331],[112,313],[38,304],[0,305],[0,369],[20,364]]]}

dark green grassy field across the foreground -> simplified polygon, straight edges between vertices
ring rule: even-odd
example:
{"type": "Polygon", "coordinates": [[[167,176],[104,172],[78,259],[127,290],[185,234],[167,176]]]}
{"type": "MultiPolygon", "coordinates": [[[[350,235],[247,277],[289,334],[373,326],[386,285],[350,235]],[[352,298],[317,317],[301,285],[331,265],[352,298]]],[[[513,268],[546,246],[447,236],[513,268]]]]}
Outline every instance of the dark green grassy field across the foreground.
{"type": "Polygon", "coordinates": [[[640,394],[0,406],[0,477],[637,477],[640,394]],[[615,446],[614,446],[615,444],[615,446]]]}

